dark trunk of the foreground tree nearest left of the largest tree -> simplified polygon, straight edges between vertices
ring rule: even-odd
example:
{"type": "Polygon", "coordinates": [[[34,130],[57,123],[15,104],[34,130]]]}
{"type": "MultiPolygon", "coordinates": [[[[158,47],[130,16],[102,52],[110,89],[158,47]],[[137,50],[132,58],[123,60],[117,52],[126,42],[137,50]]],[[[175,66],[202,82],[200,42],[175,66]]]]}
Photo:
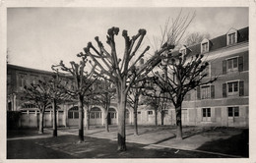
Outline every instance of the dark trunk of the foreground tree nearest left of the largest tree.
{"type": "Polygon", "coordinates": [[[83,95],[78,95],[79,102],[78,102],[78,108],[79,108],[79,142],[84,141],[84,108],[83,108],[83,95]]]}

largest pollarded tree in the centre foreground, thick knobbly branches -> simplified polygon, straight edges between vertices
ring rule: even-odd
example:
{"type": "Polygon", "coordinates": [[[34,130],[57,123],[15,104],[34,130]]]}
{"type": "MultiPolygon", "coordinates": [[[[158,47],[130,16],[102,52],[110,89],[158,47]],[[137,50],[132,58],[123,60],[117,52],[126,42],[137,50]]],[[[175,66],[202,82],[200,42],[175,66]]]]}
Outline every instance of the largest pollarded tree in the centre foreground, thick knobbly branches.
{"type": "Polygon", "coordinates": [[[141,81],[143,77],[147,76],[153,68],[160,63],[160,54],[168,49],[173,48],[171,44],[165,44],[164,47],[160,48],[151,59],[149,59],[143,66],[136,68],[136,63],[145,55],[150,49],[146,47],[145,50],[136,58],[133,64],[130,64],[146,34],[145,29],[140,29],[138,34],[130,38],[127,30],[123,30],[122,35],[125,39],[125,50],[123,59],[118,59],[114,36],[119,32],[118,27],[111,27],[107,32],[106,43],[110,46],[110,52],[108,52],[101,41],[96,36],[96,43],[98,49],[92,44],[88,43],[88,46],[84,48],[86,55],[89,55],[95,62],[98,69],[95,74],[103,79],[111,81],[116,86],[117,94],[117,108],[118,108],[118,150],[126,150],[125,143],[125,108],[127,101],[127,94],[130,90],[131,85],[134,82],[141,81]],[[135,73],[136,72],[136,73],[135,73]],[[140,76],[140,78],[138,78],[140,76]]]}

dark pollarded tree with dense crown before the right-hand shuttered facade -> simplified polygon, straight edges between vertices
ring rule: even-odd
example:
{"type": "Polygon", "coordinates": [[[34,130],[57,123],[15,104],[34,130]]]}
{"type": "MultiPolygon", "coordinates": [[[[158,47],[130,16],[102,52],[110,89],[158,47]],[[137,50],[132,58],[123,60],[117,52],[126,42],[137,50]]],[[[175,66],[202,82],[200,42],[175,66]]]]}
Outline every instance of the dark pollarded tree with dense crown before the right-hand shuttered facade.
{"type": "Polygon", "coordinates": [[[203,55],[187,56],[179,53],[172,56],[166,65],[161,65],[161,73],[155,72],[155,83],[160,86],[162,92],[167,93],[165,98],[170,100],[176,112],[176,138],[182,139],[181,108],[184,96],[197,86],[212,83],[217,77],[205,79],[208,62],[203,62],[203,55]]]}

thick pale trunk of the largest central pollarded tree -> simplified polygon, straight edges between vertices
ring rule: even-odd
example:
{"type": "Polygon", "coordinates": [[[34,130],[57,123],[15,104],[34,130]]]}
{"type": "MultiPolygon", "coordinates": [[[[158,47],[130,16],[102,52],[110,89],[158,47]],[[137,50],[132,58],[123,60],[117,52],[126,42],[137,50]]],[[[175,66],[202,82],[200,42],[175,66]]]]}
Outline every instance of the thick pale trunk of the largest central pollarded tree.
{"type": "Polygon", "coordinates": [[[125,92],[125,81],[121,83],[119,88],[117,88],[118,91],[118,148],[119,151],[125,151],[126,150],[126,143],[125,143],[125,108],[126,108],[126,96],[127,93],[125,92]]]}

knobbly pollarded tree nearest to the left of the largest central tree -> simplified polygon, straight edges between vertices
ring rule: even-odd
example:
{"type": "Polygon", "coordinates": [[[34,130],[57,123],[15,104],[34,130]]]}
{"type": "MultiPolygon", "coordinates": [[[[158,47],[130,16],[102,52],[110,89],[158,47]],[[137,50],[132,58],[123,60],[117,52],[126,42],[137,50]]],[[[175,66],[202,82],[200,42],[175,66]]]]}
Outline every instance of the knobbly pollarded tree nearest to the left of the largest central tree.
{"type": "MultiPolygon", "coordinates": [[[[94,77],[94,72],[96,66],[92,68],[87,67],[88,59],[83,53],[77,55],[81,61],[76,63],[74,61],[70,62],[71,67],[67,67],[63,61],[60,61],[58,65],[53,65],[52,70],[54,72],[64,72],[68,73],[75,81],[74,87],[65,88],[65,92],[72,97],[75,97],[78,101],[79,108],[79,142],[84,141],[84,99],[86,93],[89,92],[90,87],[96,81],[94,77]]],[[[90,64],[89,64],[90,65],[90,64]]]]}

